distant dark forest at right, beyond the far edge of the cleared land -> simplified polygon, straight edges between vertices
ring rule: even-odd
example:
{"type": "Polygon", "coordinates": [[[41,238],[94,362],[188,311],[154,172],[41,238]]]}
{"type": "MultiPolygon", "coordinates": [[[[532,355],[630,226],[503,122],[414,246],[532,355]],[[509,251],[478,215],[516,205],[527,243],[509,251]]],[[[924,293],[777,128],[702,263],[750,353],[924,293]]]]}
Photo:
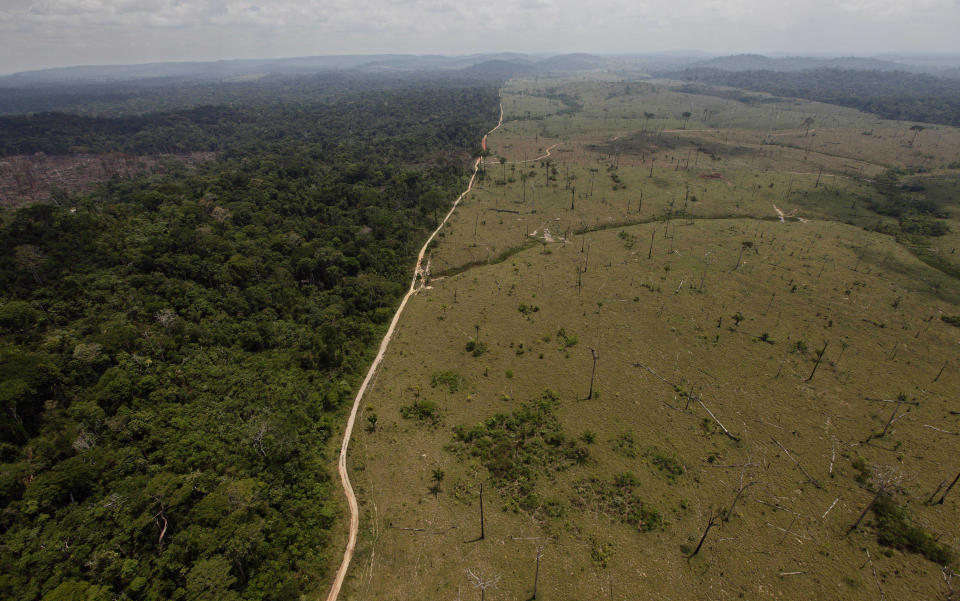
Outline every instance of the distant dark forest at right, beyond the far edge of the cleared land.
{"type": "Polygon", "coordinates": [[[960,81],[932,75],[849,69],[798,72],[687,69],[669,76],[839,104],[886,119],[960,125],[960,81]]]}

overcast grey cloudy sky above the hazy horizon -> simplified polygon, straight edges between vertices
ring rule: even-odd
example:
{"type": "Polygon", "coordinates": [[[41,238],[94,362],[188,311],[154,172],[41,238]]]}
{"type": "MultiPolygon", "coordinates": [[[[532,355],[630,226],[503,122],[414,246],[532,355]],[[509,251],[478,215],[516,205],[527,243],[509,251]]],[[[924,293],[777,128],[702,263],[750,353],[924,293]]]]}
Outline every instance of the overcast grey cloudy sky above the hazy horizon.
{"type": "Polygon", "coordinates": [[[0,0],[0,73],[483,51],[960,52],[960,0],[0,0]]]}

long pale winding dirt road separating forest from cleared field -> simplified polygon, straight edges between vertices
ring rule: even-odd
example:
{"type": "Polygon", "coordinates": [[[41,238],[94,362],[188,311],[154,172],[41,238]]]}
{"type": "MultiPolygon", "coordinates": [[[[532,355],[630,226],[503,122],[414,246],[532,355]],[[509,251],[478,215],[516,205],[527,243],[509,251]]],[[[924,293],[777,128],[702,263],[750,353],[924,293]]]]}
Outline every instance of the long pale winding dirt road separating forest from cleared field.
{"type": "MultiPolygon", "coordinates": [[[[500,126],[503,125],[503,104],[500,104],[500,119],[497,122],[497,126],[487,132],[483,136],[482,147],[484,150],[487,148],[487,136],[497,131],[500,126]]],[[[377,351],[377,356],[374,357],[373,363],[370,364],[370,369],[367,370],[367,375],[363,379],[363,383],[360,385],[360,389],[357,391],[357,396],[353,400],[353,407],[350,409],[350,418],[347,420],[347,428],[343,434],[343,443],[340,445],[340,460],[337,463],[337,471],[340,473],[340,481],[343,483],[343,492],[347,496],[347,504],[350,506],[350,534],[347,537],[347,548],[343,552],[343,561],[340,563],[340,567],[337,569],[337,576],[333,580],[333,586],[330,587],[330,592],[327,594],[327,601],[337,601],[337,597],[340,596],[340,588],[343,586],[343,581],[347,576],[347,569],[350,567],[350,560],[353,559],[353,551],[357,546],[357,532],[360,530],[360,510],[357,506],[357,497],[353,493],[353,486],[350,484],[350,476],[347,474],[347,450],[350,447],[350,437],[353,435],[353,426],[357,419],[357,410],[360,407],[360,401],[363,399],[363,394],[367,391],[367,387],[370,385],[370,382],[373,381],[373,376],[377,372],[377,368],[380,367],[380,363],[383,361],[383,356],[387,352],[387,346],[390,344],[390,340],[393,339],[394,330],[397,327],[397,323],[400,321],[400,315],[403,313],[403,309],[407,306],[407,301],[420,292],[420,290],[425,285],[426,278],[424,277],[424,267],[423,267],[423,258],[427,254],[427,247],[430,246],[430,243],[433,242],[433,239],[436,237],[440,229],[446,225],[447,220],[450,219],[450,216],[453,215],[453,212],[456,210],[457,205],[460,204],[460,201],[463,200],[463,197],[470,193],[473,189],[473,182],[477,178],[477,168],[480,166],[481,157],[478,157],[476,162],[473,164],[473,173],[470,175],[470,181],[467,183],[467,189],[463,191],[460,196],[453,202],[453,206],[450,207],[450,211],[447,212],[444,216],[443,221],[440,222],[440,225],[437,226],[437,229],[433,230],[433,233],[430,234],[430,237],[427,238],[427,241],[424,242],[423,248],[420,249],[420,254],[417,255],[417,264],[413,270],[413,280],[410,282],[410,289],[407,290],[407,293],[404,295],[403,300],[400,301],[400,306],[397,308],[397,312],[393,315],[393,320],[390,322],[390,327],[387,328],[387,333],[383,336],[383,340],[380,341],[380,349],[377,351]]]]}

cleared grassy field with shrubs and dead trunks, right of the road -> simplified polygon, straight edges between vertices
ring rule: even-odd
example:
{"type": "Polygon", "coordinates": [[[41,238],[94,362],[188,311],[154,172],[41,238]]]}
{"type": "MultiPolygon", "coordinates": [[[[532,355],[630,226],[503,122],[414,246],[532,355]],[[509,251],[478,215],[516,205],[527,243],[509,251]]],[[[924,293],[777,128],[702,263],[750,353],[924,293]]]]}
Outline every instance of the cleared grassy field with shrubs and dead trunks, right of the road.
{"type": "Polygon", "coordinates": [[[354,435],[345,598],[528,599],[538,552],[539,599],[948,590],[960,135],[671,85],[504,90],[354,435]],[[865,229],[901,227],[869,208],[890,165],[950,232],[865,229]]]}

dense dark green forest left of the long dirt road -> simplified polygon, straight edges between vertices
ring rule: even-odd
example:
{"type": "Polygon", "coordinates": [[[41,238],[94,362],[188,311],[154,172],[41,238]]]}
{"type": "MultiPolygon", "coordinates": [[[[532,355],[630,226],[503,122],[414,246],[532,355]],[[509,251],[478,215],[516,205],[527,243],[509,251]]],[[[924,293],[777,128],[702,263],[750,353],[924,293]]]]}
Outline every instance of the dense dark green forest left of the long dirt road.
{"type": "Polygon", "coordinates": [[[2,121],[3,152],[211,149],[0,214],[0,598],[321,587],[340,417],[496,122],[435,80],[2,121]]]}

